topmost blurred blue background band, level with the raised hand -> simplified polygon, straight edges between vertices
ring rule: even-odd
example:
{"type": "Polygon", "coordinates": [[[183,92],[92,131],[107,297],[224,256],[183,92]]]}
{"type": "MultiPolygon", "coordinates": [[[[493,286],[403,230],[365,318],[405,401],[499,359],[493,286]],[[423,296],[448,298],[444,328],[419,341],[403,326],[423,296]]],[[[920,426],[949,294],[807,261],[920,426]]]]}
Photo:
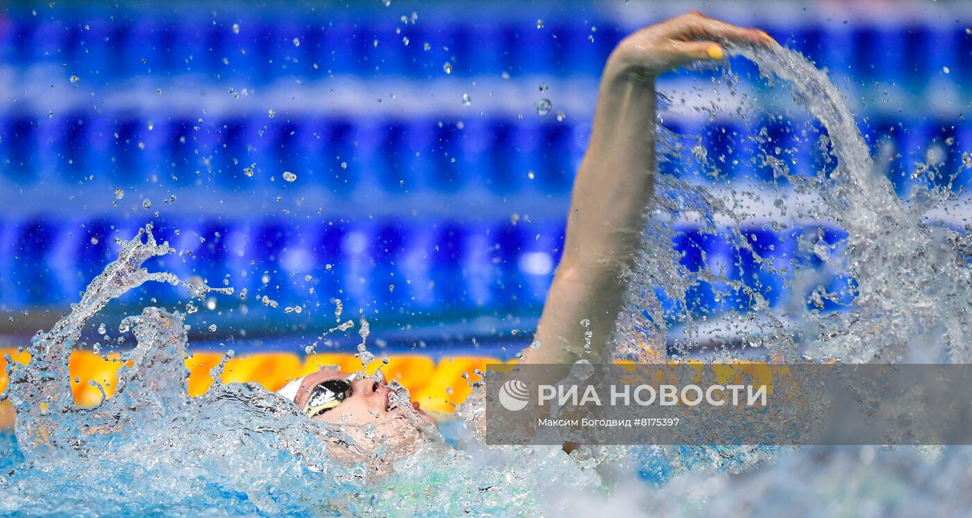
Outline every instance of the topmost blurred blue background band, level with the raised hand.
{"type": "MultiPolygon", "coordinates": [[[[0,15],[0,59],[28,66],[52,63],[91,82],[153,74],[200,73],[213,78],[268,82],[280,77],[357,76],[428,78],[452,73],[540,74],[596,77],[626,29],[607,19],[547,19],[487,15],[401,23],[378,16],[238,14],[172,17],[132,10],[126,17],[101,14],[38,17],[29,11],[0,15]],[[407,43],[406,43],[407,42],[407,43]],[[428,44],[428,50],[426,46],[428,44]]],[[[646,19],[645,22],[651,20],[646,19]]],[[[948,26],[903,21],[888,25],[814,22],[764,27],[784,45],[804,52],[817,66],[862,79],[924,82],[955,71],[972,56],[967,24],[948,26]]]]}

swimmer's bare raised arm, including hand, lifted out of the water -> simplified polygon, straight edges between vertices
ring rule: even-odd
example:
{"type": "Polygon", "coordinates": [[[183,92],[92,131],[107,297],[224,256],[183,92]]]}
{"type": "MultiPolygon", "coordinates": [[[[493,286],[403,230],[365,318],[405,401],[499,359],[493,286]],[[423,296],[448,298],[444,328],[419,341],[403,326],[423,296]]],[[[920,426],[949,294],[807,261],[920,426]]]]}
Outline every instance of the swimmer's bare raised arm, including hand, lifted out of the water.
{"type": "Polygon", "coordinates": [[[690,13],[644,28],[611,52],[573,183],[564,255],[534,346],[522,362],[611,361],[625,292],[622,274],[634,265],[653,188],[655,77],[694,61],[722,59],[720,44],[768,41],[765,32],[690,13]]]}

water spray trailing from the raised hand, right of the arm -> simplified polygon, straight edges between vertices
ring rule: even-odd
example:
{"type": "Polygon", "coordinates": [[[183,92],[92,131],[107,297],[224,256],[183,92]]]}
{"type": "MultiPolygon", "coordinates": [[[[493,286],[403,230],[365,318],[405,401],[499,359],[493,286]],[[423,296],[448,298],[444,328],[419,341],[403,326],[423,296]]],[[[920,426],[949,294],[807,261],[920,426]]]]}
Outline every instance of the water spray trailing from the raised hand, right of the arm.
{"type": "MultiPolygon", "coordinates": [[[[967,309],[972,299],[969,236],[931,221],[937,207],[956,200],[951,183],[930,189],[922,186],[903,203],[872,159],[850,110],[825,73],[799,53],[781,47],[733,52],[756,62],[765,77],[783,80],[797,104],[822,124],[822,129],[816,129],[807,121],[803,132],[819,132],[825,155],[833,157],[833,167],[820,168],[810,177],[800,176],[790,173],[783,160],[774,162],[765,152],[744,164],[753,170],[771,165],[775,176],[791,186],[791,198],[802,195],[812,200],[812,205],[794,211],[803,216],[795,222],[785,221],[787,207],[781,199],[785,193],[780,189],[748,190],[751,186],[747,186],[744,192],[720,192],[691,179],[659,176],[642,257],[619,323],[622,352],[642,360],[656,357],[665,348],[678,355],[697,356],[698,351],[691,349],[700,345],[700,336],[712,331],[712,326],[708,322],[711,315],[691,311],[693,297],[700,296],[700,287],[711,287],[717,303],[737,302],[722,324],[738,329],[727,341],[736,346],[763,346],[778,361],[838,358],[847,363],[967,363],[970,350],[964,336],[972,324],[967,309]],[[767,203],[773,198],[773,203],[767,203]],[[772,209],[772,205],[781,209],[772,211],[774,216],[752,209],[772,209]],[[753,225],[746,223],[753,216],[764,220],[757,224],[762,228],[796,236],[800,250],[780,264],[778,251],[758,243],[758,236],[746,230],[753,225]],[[767,219],[771,222],[766,223],[767,219]],[[818,229],[807,232],[800,220],[829,221],[846,237],[824,242],[818,229]],[[677,224],[685,221],[698,227],[700,239],[726,240],[731,263],[723,261],[721,270],[708,262],[697,271],[686,267],[671,247],[683,233],[677,224]],[[848,280],[846,293],[829,291],[819,268],[792,264],[801,260],[801,253],[821,262],[824,269],[841,272],[848,280]],[[744,271],[744,262],[752,265],[752,271],[744,271]],[[768,300],[761,281],[752,279],[761,275],[780,276],[791,299],[777,304],[768,300]],[[739,303],[741,298],[744,303],[739,303]],[[846,311],[822,310],[828,301],[837,299],[849,302],[846,311]],[[679,340],[677,334],[687,338],[679,340]]],[[[779,95],[785,88],[776,86],[773,91],[779,95]]],[[[746,110],[753,107],[746,106],[746,110]]],[[[743,115],[752,117],[752,113],[743,115]]],[[[694,162],[699,170],[721,169],[718,159],[699,153],[701,146],[672,144],[677,138],[670,134],[663,139],[660,151],[680,154],[675,159],[694,162]]],[[[765,128],[752,140],[763,144],[765,128]]],[[[813,141],[808,137],[803,144],[809,146],[813,141]]],[[[738,356],[739,349],[723,349],[716,356],[727,355],[738,356]]]]}

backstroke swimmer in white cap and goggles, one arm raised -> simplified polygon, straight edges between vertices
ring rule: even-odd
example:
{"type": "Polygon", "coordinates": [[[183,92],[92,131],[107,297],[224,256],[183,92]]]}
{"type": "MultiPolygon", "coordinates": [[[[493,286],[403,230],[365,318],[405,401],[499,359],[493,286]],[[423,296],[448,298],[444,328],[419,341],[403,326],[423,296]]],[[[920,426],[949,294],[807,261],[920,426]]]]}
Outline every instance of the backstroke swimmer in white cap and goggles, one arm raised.
{"type": "MultiPolygon", "coordinates": [[[[655,78],[697,61],[721,60],[724,44],[772,42],[763,31],[689,13],[643,28],[611,52],[590,143],[573,184],[563,258],[535,335],[539,345],[524,350],[521,363],[611,362],[625,273],[634,266],[652,193],[655,78]],[[582,327],[582,320],[589,326],[582,327]]],[[[653,354],[665,358],[664,351],[653,354]]],[[[397,444],[435,425],[419,403],[398,401],[384,378],[324,369],[295,379],[278,394],[318,421],[372,425],[366,434],[372,442],[397,444]]]]}

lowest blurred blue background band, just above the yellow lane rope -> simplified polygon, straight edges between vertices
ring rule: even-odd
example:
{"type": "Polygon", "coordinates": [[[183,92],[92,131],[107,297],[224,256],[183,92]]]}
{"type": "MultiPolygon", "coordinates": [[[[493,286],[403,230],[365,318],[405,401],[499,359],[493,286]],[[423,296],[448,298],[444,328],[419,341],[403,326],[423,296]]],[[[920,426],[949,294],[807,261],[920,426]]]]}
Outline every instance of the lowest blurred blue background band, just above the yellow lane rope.
{"type": "MultiPolygon", "coordinates": [[[[228,284],[236,294],[246,289],[247,300],[257,307],[266,295],[282,306],[326,303],[336,297],[349,308],[393,314],[536,309],[559,261],[564,228],[559,221],[156,221],[156,237],[169,241],[179,254],[159,259],[150,269],[201,278],[214,287],[228,284]]],[[[114,256],[114,239],[127,238],[136,229],[133,223],[107,220],[64,224],[35,219],[0,225],[2,305],[64,306],[77,300],[114,256]]],[[[820,286],[837,294],[817,309],[840,309],[851,302],[853,280],[831,271],[814,252],[824,247],[827,255],[839,254],[845,237],[841,231],[808,225],[774,232],[754,224],[742,235],[745,242],[729,231],[680,228],[672,246],[681,254],[681,264],[691,272],[708,268],[721,280],[689,287],[684,302],[659,290],[659,303],[670,318],[685,312],[712,316],[746,310],[756,304],[755,294],[776,306],[785,301],[788,279],[798,267],[818,271],[820,286]],[[733,286],[736,282],[743,284],[733,286]]],[[[154,285],[126,300],[166,303],[179,297],[188,298],[174,288],[154,285]]]]}

